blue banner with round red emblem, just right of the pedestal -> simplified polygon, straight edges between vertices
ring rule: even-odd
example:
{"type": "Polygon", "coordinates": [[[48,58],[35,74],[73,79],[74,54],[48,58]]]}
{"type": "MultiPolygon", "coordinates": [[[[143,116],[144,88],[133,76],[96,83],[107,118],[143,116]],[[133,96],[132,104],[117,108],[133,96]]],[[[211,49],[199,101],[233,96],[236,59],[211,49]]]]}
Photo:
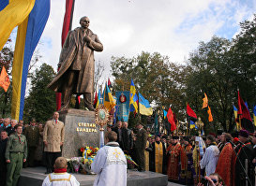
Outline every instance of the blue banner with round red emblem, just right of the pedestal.
{"type": "Polygon", "coordinates": [[[128,107],[129,107],[129,92],[118,91],[115,92],[117,101],[117,119],[121,122],[128,122],[128,107]]]}

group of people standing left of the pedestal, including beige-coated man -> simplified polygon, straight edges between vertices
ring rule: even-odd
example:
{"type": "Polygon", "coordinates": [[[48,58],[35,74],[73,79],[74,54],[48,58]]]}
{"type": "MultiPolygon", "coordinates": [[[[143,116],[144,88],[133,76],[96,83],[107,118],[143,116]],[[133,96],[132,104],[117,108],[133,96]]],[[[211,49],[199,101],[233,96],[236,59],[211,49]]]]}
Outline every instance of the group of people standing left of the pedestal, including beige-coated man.
{"type": "Polygon", "coordinates": [[[46,174],[54,170],[64,142],[64,123],[53,120],[42,123],[33,119],[23,124],[9,118],[0,119],[0,185],[17,185],[22,168],[44,165],[46,174]]]}

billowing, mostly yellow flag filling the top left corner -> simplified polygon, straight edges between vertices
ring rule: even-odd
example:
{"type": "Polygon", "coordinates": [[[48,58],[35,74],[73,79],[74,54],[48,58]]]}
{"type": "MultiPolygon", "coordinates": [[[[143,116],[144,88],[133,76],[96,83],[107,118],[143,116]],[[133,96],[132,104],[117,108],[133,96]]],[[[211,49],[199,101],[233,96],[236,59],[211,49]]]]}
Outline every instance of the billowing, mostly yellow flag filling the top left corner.
{"type": "Polygon", "coordinates": [[[8,41],[11,31],[27,18],[34,4],[35,0],[0,1],[0,50],[8,41]]]}

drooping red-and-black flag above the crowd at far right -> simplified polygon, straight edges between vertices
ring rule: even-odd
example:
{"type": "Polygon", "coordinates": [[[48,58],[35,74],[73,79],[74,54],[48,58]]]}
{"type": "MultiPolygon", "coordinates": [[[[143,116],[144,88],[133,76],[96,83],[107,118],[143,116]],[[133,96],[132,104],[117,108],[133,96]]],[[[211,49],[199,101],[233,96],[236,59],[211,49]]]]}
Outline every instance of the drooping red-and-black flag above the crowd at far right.
{"type": "Polygon", "coordinates": [[[242,128],[248,130],[248,132],[253,133],[254,128],[249,115],[248,107],[246,106],[244,100],[241,98],[238,91],[238,110],[237,115],[241,119],[242,128]]]}

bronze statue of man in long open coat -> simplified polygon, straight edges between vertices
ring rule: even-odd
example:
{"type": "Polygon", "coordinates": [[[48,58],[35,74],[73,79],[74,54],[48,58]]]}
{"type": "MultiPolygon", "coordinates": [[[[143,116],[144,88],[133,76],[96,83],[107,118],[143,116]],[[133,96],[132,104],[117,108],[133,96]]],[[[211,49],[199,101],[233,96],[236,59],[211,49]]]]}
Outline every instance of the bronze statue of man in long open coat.
{"type": "Polygon", "coordinates": [[[59,71],[48,85],[57,93],[62,93],[62,109],[68,108],[73,93],[83,94],[84,107],[94,110],[94,50],[102,51],[103,45],[89,27],[89,19],[80,20],[81,27],[68,32],[61,50],[59,71]]]}

